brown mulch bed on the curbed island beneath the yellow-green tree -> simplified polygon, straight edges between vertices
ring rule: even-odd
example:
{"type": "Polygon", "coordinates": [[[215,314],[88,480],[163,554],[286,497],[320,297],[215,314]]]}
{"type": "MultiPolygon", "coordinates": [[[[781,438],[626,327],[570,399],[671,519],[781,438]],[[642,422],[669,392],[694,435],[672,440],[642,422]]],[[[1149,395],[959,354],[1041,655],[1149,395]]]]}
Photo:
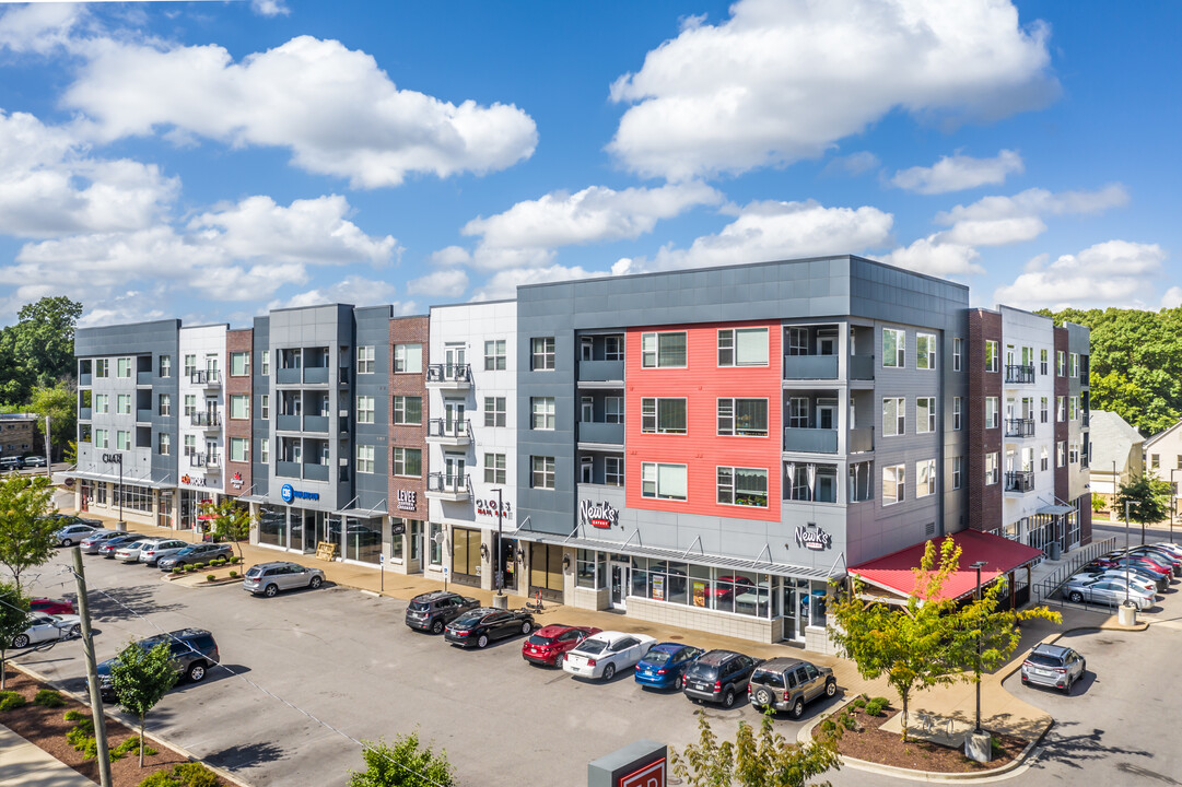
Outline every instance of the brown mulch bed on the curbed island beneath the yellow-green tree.
{"type": "MultiPolygon", "coordinates": [[[[891,705],[888,705],[881,716],[870,716],[852,704],[845,705],[844,710],[853,716],[858,727],[856,730],[844,730],[838,740],[838,753],[855,760],[877,762],[895,768],[936,773],[992,770],[1013,761],[1022,753],[1028,742],[1013,735],[994,733],[993,736],[998,741],[1000,750],[995,747],[993,760],[988,763],[981,763],[966,757],[963,749],[952,749],[947,746],[915,739],[903,743],[898,733],[886,733],[879,729],[888,720],[898,714],[898,709],[891,705]]],[[[830,718],[836,722],[838,714],[833,714],[830,718]]],[[[813,727],[812,734],[814,737],[820,734],[820,724],[813,727]]]]}

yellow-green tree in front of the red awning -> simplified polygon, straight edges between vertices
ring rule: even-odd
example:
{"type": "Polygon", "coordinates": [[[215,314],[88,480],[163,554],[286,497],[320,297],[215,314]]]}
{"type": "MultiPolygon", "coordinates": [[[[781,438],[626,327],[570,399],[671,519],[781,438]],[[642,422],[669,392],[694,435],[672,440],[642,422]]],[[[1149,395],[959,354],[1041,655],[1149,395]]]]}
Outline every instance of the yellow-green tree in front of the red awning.
{"type": "Polygon", "coordinates": [[[991,670],[1005,662],[1021,638],[1017,623],[1043,617],[1058,619],[1046,607],[1014,612],[999,610],[1004,580],[982,590],[980,599],[959,603],[943,587],[960,565],[961,549],[952,538],[939,547],[928,541],[915,568],[915,592],[903,606],[863,598],[863,586],[839,598],[830,609],[837,626],[830,637],[842,655],[852,659],[866,679],[882,675],[898,694],[903,740],[911,694],[917,689],[980,679],[980,665],[991,670]],[[966,670],[968,672],[966,674],[966,670]]]}

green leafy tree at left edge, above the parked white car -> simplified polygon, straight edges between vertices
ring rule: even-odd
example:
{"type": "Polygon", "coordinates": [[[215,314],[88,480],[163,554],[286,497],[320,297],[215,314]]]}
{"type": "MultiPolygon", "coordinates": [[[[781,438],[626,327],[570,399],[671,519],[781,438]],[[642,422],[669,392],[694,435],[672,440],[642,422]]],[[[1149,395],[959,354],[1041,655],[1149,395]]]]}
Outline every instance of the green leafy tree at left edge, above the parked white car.
{"type": "Polygon", "coordinates": [[[46,516],[53,486],[44,475],[8,475],[0,481],[0,565],[20,588],[25,570],[40,566],[53,554],[58,525],[46,516]]]}

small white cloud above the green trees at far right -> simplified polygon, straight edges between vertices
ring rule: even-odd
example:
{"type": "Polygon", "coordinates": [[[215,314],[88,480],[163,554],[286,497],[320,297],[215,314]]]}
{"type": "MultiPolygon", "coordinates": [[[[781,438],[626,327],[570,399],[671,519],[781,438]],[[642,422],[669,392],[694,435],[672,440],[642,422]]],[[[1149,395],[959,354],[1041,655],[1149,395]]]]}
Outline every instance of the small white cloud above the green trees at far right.
{"type": "Polygon", "coordinates": [[[1047,264],[1039,256],[1012,285],[999,287],[999,304],[1020,308],[1130,306],[1157,300],[1165,252],[1156,243],[1111,240],[1047,264]]]}

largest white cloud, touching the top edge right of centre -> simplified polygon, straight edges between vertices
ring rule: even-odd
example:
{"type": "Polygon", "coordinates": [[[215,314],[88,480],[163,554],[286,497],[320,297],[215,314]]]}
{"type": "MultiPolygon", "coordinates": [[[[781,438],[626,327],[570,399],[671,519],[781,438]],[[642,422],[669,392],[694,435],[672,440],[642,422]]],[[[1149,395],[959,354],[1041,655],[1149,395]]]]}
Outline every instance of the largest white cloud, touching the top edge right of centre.
{"type": "Polygon", "coordinates": [[[1041,22],[1005,0],[739,0],[684,26],[611,86],[609,150],[684,180],[821,155],[889,112],[991,121],[1057,92],[1041,22]]]}

